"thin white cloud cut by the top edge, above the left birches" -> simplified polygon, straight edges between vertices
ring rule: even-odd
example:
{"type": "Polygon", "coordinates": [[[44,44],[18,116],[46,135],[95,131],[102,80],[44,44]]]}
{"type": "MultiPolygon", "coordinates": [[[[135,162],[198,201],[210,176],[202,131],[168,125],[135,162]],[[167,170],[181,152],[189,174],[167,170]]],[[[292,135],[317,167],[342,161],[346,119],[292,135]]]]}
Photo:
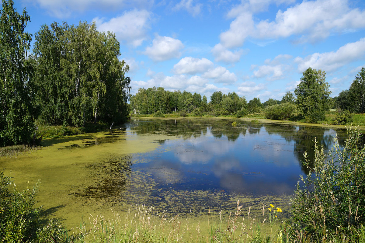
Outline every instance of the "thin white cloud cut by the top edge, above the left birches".
{"type": "Polygon", "coordinates": [[[84,12],[88,9],[101,9],[109,11],[122,8],[147,7],[153,1],[134,0],[134,1],[118,1],[118,0],[23,0],[26,3],[39,6],[45,9],[50,16],[59,19],[70,17],[73,12],[84,12]]]}

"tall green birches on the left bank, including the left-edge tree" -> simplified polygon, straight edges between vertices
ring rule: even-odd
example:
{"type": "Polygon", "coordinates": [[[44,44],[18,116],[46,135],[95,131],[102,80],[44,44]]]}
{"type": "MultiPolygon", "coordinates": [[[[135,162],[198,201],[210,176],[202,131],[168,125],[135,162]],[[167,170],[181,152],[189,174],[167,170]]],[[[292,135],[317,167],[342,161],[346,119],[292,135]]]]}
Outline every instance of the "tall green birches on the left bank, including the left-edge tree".
{"type": "Polygon", "coordinates": [[[0,14],[0,146],[29,143],[34,119],[85,126],[127,117],[129,67],[114,33],[87,22],[44,24],[31,52],[26,10],[3,0],[0,14]]]}

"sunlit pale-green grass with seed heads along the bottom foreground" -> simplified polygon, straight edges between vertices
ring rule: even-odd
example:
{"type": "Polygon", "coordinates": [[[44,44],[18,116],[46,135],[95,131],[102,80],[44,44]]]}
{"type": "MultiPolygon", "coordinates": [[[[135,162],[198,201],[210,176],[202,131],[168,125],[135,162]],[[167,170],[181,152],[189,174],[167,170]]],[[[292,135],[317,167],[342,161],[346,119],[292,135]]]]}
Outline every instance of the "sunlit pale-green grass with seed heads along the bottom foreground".
{"type": "Polygon", "coordinates": [[[189,218],[181,219],[178,215],[168,217],[166,211],[160,212],[153,207],[129,207],[123,214],[113,212],[114,218],[107,220],[103,215],[90,217],[80,227],[73,229],[67,235],[59,234],[57,242],[94,243],[94,242],[273,242],[272,233],[266,233],[262,227],[270,226],[268,232],[277,232],[277,225],[269,224],[265,216],[265,206],[262,205],[264,218],[252,216],[251,207],[248,212],[242,211],[242,205],[237,202],[237,209],[224,216],[219,212],[219,219],[191,223],[189,218]],[[203,225],[205,224],[205,225],[203,225]],[[274,228],[274,231],[273,231],[274,228]],[[70,236],[71,235],[71,236],[70,236]]]}

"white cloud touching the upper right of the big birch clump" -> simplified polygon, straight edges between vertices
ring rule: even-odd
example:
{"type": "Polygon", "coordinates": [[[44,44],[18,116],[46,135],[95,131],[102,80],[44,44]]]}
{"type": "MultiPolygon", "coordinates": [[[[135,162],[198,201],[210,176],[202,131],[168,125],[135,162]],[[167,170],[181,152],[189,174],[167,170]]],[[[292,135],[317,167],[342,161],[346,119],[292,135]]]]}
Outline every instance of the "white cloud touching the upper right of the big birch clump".
{"type": "Polygon", "coordinates": [[[92,21],[96,23],[99,31],[112,31],[119,40],[137,47],[147,38],[146,32],[150,28],[151,16],[152,13],[147,10],[134,9],[109,21],[99,17],[92,21]]]}

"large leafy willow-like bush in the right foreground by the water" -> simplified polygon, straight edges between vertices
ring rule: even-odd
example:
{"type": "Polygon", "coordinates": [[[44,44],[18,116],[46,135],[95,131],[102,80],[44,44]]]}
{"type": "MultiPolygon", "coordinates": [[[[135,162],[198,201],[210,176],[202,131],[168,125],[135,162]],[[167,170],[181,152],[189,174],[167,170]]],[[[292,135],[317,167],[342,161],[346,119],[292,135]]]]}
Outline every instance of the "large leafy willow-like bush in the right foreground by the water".
{"type": "Polygon", "coordinates": [[[365,148],[359,127],[347,127],[347,135],[344,147],[335,138],[328,154],[315,139],[314,161],[304,153],[310,172],[301,176],[303,187],[297,184],[287,227],[293,233],[303,230],[310,242],[322,242],[326,235],[354,237],[365,225],[365,148]]]}

